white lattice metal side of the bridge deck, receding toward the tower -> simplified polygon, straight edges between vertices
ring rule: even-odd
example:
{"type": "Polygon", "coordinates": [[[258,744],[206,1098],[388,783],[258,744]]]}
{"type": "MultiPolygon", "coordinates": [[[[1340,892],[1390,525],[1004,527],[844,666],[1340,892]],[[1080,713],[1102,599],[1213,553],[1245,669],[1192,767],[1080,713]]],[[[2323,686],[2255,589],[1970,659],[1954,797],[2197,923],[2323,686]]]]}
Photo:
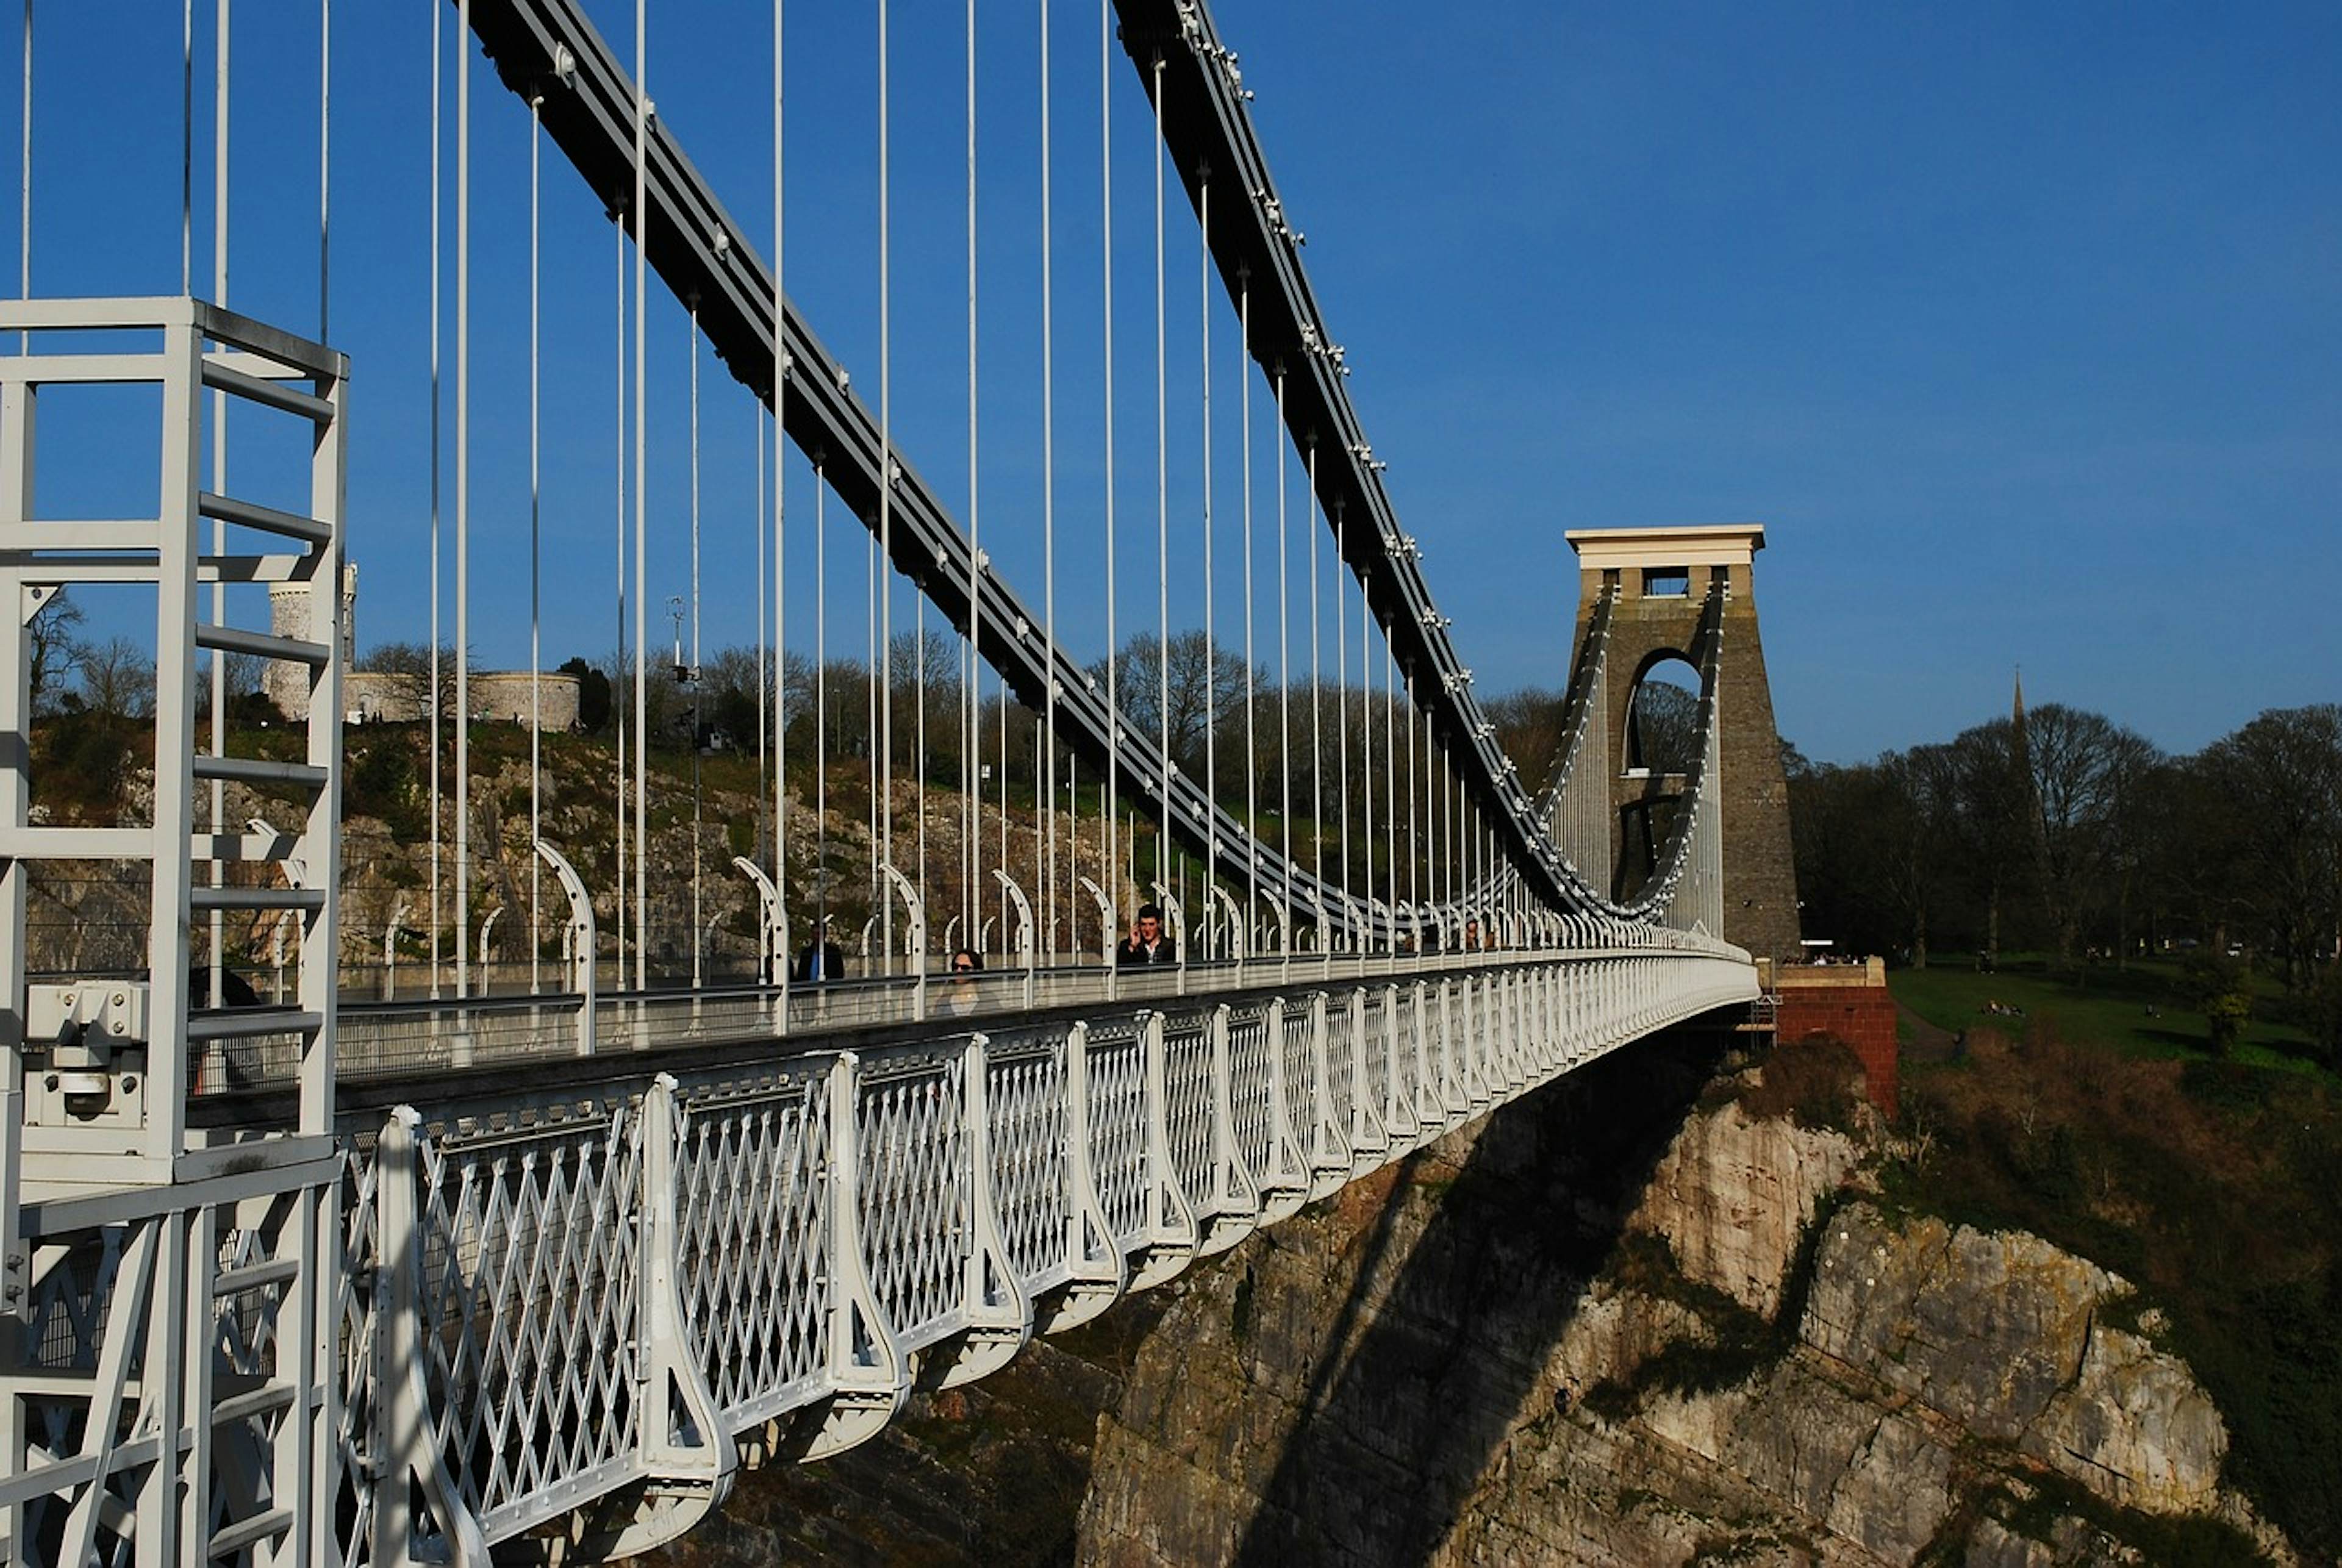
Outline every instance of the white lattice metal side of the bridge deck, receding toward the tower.
{"type": "Polygon", "coordinates": [[[1494,957],[670,1058],[354,1128],[340,1348],[365,1418],[344,1465],[377,1484],[344,1512],[347,1561],[461,1559],[571,1517],[604,1549],[672,1538],[738,1465],[871,1437],[913,1376],[981,1376],[1492,1105],[1756,997],[1745,953],[1679,931],[1494,957]]]}

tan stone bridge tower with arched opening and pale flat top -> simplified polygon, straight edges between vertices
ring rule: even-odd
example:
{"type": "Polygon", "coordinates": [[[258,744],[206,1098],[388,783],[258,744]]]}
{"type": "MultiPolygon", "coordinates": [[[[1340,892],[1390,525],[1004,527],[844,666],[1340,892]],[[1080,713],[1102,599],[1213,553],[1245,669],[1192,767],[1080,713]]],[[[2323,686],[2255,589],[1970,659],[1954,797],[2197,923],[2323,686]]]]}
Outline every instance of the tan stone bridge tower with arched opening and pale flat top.
{"type": "MultiPolygon", "coordinates": [[[[1761,522],[1728,522],[1660,529],[1571,529],[1579,555],[1579,627],[1583,648],[1604,590],[1616,590],[1609,615],[1609,658],[1602,693],[1611,772],[1611,866],[1614,896],[1632,894],[1649,871],[1637,847],[1665,835],[1665,817],[1684,791],[1684,775],[1668,758],[1644,758],[1630,721],[1651,676],[1684,669],[1698,686],[1703,648],[1700,606],[1714,580],[1724,583],[1724,667],[1719,714],[1719,770],[1724,807],[1724,931],[1754,957],[1775,964],[1794,957],[1796,864],[1789,847],[1789,782],[1780,765],[1773,728],[1773,688],[1764,672],[1764,639],[1756,634],[1756,592],[1749,566],[1764,550],[1761,522]],[[1656,765],[1653,765],[1656,763],[1656,765]]],[[[1653,704],[1656,707],[1656,704],[1653,704]]],[[[1656,714],[1653,714],[1656,716],[1656,714]]]]}

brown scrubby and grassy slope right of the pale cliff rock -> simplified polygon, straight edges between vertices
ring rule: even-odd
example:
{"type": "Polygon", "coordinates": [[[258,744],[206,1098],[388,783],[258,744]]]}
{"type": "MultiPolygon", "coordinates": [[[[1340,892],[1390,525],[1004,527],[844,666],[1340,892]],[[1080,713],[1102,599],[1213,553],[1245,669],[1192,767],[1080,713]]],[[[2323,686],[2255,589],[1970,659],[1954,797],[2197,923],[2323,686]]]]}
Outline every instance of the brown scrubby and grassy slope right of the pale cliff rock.
{"type": "Polygon", "coordinates": [[[2230,1421],[2230,1477],[2312,1554],[2342,1554],[2342,1079],[2255,1025],[2206,1048],[2150,964],[2080,983],[2023,967],[1897,971],[1960,1060],[1906,1058],[1904,1119],[1930,1154],[1899,1196],[2021,1226],[2115,1268],[2230,1421]],[[1988,1018],[1986,999],[2026,1018],[1988,1018]],[[2159,1016],[2148,1016],[2155,1002],[2159,1016]]]}

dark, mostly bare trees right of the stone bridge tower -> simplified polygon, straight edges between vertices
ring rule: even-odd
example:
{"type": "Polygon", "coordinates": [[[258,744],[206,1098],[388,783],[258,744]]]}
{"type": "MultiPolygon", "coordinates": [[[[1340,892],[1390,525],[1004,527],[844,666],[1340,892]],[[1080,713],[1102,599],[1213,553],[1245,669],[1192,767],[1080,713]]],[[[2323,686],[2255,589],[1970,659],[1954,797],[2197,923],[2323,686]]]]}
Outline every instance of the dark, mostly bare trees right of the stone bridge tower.
{"type": "Polygon", "coordinates": [[[1785,744],[1808,934],[2056,967],[2253,957],[2288,990],[2342,955],[2342,704],[2267,709],[2173,756],[2049,702],[1869,763],[1785,744]]]}

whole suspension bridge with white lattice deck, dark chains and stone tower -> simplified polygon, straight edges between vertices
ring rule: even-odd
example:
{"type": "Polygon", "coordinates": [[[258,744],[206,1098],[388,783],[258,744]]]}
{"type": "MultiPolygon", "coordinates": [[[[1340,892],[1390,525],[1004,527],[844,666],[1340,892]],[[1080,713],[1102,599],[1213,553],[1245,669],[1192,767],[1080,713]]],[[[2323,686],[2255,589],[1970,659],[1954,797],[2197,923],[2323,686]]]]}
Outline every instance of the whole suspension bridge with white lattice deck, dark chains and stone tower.
{"type": "Polygon", "coordinates": [[[143,98],[169,169],[155,211],[122,206],[162,236],[157,276],[98,295],[80,278],[119,269],[37,222],[35,147],[119,105],[40,96],[98,23],[26,7],[21,297],[0,302],[7,1563],[649,1549],[749,1465],[838,1453],[913,1388],[981,1378],[1581,1062],[1747,1016],[1752,955],[1794,950],[1761,529],[1569,538],[1569,688],[1532,786],[1393,510],[1199,2],[972,2],[965,37],[930,16],[916,49],[890,0],[775,5],[728,61],[771,110],[768,185],[740,190],[689,154],[689,105],[653,98],[651,14],[679,0],[295,9],[190,0],[148,40],[178,89],[143,98]],[[824,143],[782,84],[827,77],[848,30],[874,47],[855,91],[876,243],[850,267],[871,309],[813,321],[782,215],[824,143]],[[389,103],[403,77],[365,54],[384,35],[429,63],[429,96],[389,103]],[[239,75],[239,49],[260,68],[239,75]],[[904,103],[927,131],[949,105],[951,145],[890,140],[904,103]],[[307,145],[309,110],[316,185],[279,171],[237,206],[234,126],[307,145]],[[335,187],[335,115],[429,150],[405,255],[337,243],[370,192],[335,187]],[[543,178],[546,152],[576,178],[543,178]],[[899,239],[897,164],[963,152],[965,192],[925,178],[899,239]],[[1080,220],[1075,183],[1096,194],[1080,220]],[[731,215],[761,204],[759,232],[731,215]],[[937,248],[939,206],[965,255],[937,248]],[[276,218],[269,267],[300,267],[230,290],[246,208],[276,218]],[[475,229],[518,213],[499,255],[525,267],[485,267],[475,229]],[[986,222],[1038,243],[979,269],[986,222]],[[351,386],[372,372],[333,346],[335,309],[396,293],[370,269],[398,267],[429,276],[426,318],[398,328],[429,344],[431,398],[403,447],[365,433],[351,386]],[[979,370],[1002,295],[1038,339],[1002,351],[1009,388],[979,370]],[[609,328],[593,353],[581,321],[609,328]],[[653,321],[689,325],[684,374],[653,321]],[[845,339],[855,356],[824,346],[845,339]],[[492,349],[494,456],[511,473],[525,431],[527,468],[518,503],[482,506],[492,349]],[[949,388],[934,365],[963,356],[949,388]],[[609,414],[583,445],[607,480],[593,534],[555,428],[588,384],[609,414]],[[754,503],[705,550],[717,592],[703,405],[731,419],[724,461],[754,447],[754,503]],[[916,445],[941,433],[965,447],[916,445]],[[370,442],[429,470],[429,534],[351,503],[370,442]],[[426,658],[398,679],[356,655],[356,543],[377,576],[426,559],[426,658]],[[581,676],[543,669],[546,583],[576,597],[588,555],[609,569],[614,749],[548,761],[546,693],[576,716],[581,676]],[[679,590],[672,660],[653,585],[679,590]],[[759,784],[710,819],[703,791],[653,784],[653,754],[710,749],[693,693],[719,599],[754,599],[759,784]],[[91,723],[56,695],[61,604],[152,676],[101,714],[136,721],[124,775],[152,749],[150,784],[103,810],[61,786],[59,737],[91,723]],[[831,658],[831,620],[867,662],[831,658]],[[475,632],[518,625],[527,672],[475,667],[475,632]],[[1204,718],[1176,735],[1183,627],[1204,718]],[[1663,747],[1642,702],[1665,662],[1693,688],[1663,747]],[[262,672],[269,723],[234,723],[239,669],[262,672]],[[518,702],[518,772],[475,768],[489,688],[518,702]],[[677,690],[682,747],[658,728],[677,690]],[[422,875],[354,850],[351,716],[424,737],[424,826],[393,845],[422,875]]]}

